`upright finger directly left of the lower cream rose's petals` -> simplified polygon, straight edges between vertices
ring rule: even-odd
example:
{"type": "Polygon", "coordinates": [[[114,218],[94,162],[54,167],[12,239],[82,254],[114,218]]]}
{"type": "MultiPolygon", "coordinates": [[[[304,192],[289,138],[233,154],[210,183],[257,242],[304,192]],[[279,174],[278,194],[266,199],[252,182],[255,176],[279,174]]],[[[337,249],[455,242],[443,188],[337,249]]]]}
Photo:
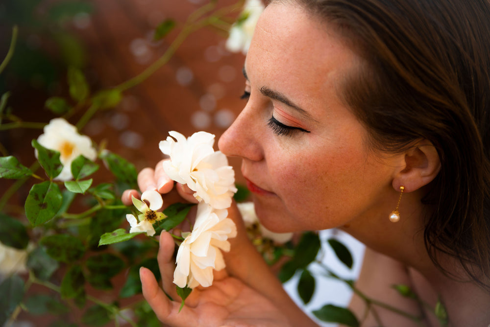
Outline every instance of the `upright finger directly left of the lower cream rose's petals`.
{"type": "Polygon", "coordinates": [[[175,263],[173,258],[173,251],[175,249],[175,243],[173,237],[168,232],[162,232],[160,234],[160,249],[158,250],[158,267],[160,268],[160,274],[162,275],[163,289],[169,294],[172,299],[179,299],[175,284],[173,283],[173,272],[175,270],[175,263]]]}

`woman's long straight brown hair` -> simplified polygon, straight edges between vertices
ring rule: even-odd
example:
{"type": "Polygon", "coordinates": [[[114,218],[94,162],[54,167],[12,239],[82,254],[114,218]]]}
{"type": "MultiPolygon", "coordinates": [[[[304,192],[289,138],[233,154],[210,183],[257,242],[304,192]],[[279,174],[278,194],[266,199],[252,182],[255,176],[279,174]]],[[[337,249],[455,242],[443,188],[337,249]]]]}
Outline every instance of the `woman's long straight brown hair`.
{"type": "MultiPolygon", "coordinates": [[[[456,257],[490,289],[490,2],[296,0],[333,23],[366,61],[343,96],[371,144],[397,152],[436,147],[441,171],[424,203],[431,259],[456,257]]],[[[447,273],[447,272],[446,272],[447,273]]]]}

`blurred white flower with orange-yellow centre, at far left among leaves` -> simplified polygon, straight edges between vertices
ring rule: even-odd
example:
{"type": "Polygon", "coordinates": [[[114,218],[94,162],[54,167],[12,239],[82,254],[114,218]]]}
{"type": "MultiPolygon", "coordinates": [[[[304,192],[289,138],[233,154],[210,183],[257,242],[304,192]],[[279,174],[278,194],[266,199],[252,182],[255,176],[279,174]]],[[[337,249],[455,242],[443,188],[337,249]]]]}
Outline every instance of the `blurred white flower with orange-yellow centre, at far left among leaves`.
{"type": "Polygon", "coordinates": [[[88,136],[78,134],[76,127],[63,118],[51,119],[49,124],[44,126],[44,134],[41,134],[37,141],[47,149],[60,152],[63,170],[54,178],[55,180],[73,179],[72,162],[79,155],[92,161],[97,158],[97,151],[92,146],[92,140],[88,136]]]}

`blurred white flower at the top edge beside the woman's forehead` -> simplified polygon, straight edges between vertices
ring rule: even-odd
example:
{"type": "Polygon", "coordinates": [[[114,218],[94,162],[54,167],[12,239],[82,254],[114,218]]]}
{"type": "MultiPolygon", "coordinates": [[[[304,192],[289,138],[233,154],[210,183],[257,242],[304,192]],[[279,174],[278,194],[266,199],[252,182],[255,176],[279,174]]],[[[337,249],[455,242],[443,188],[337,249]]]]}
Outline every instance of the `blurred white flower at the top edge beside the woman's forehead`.
{"type": "Polygon", "coordinates": [[[253,30],[259,20],[260,14],[264,11],[264,4],[260,0],[246,0],[244,10],[230,28],[230,35],[226,40],[226,48],[231,52],[244,54],[250,47],[253,30]]]}

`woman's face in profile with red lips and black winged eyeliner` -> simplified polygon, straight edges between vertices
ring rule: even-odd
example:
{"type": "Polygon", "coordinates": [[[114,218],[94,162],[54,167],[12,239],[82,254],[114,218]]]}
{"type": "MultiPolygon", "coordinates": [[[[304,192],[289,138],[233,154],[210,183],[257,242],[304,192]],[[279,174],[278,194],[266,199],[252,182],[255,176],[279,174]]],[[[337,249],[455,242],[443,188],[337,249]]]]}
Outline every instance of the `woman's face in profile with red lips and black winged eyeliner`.
{"type": "Polygon", "coordinates": [[[388,219],[393,165],[367,149],[366,129],[339,96],[358,63],[327,24],[298,6],[271,4],[257,24],[244,69],[249,97],[219,147],[243,159],[268,229],[388,219]]]}

